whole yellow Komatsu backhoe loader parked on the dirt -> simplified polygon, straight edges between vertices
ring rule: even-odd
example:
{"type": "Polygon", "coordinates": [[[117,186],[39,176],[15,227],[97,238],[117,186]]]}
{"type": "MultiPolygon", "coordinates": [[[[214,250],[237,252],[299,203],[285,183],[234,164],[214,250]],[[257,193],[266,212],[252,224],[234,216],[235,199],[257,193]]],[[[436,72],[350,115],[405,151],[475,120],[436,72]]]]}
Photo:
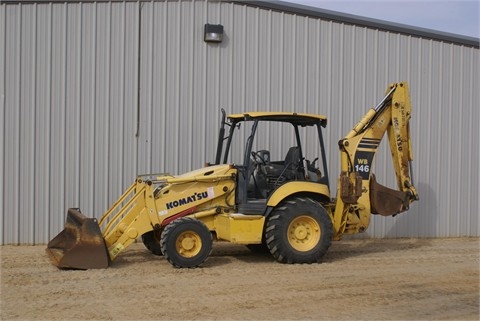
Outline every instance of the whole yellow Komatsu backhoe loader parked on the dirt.
{"type": "Polygon", "coordinates": [[[68,210],[47,253],[60,268],[106,268],[137,239],[175,267],[197,267],[214,240],[268,250],[282,263],[320,262],[332,240],[364,231],[370,214],[396,215],[418,200],[411,177],[407,83],[339,141],[341,173],[331,198],[321,115],[222,110],[214,164],[183,175],[138,176],[97,221],[68,210]],[[388,134],[398,188],[377,183],[372,164],[388,134]],[[271,144],[271,137],[276,143],[271,144]],[[243,150],[240,150],[243,147],[243,150]],[[285,156],[286,155],[286,156],[285,156]],[[318,166],[317,166],[318,161],[318,166]]]}

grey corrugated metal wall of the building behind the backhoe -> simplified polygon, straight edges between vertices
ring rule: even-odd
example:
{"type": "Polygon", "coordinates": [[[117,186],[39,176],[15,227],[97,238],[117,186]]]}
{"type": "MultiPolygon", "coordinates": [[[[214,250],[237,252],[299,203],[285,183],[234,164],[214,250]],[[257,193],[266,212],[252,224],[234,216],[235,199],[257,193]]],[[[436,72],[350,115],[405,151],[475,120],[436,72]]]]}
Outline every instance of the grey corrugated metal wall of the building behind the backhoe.
{"type": "MultiPolygon", "coordinates": [[[[327,115],[335,184],[338,139],[404,80],[421,200],[364,237],[478,236],[479,58],[232,3],[0,4],[0,242],[45,243],[67,207],[100,217],[136,174],[212,161],[222,107],[327,115]],[[223,43],[203,42],[205,23],[223,43]]],[[[376,173],[394,186],[389,157],[376,173]]]]}

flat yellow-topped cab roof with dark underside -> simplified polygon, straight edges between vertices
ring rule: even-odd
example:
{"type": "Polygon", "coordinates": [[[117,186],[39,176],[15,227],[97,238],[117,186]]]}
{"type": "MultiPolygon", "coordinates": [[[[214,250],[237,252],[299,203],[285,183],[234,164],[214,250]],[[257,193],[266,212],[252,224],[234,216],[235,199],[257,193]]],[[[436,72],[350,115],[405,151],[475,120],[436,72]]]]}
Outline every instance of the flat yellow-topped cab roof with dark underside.
{"type": "Polygon", "coordinates": [[[313,126],[320,124],[322,127],[327,125],[327,117],[317,114],[302,114],[290,112],[245,112],[243,114],[231,114],[228,118],[232,122],[240,122],[244,120],[265,120],[292,123],[300,126],[313,126]]]}

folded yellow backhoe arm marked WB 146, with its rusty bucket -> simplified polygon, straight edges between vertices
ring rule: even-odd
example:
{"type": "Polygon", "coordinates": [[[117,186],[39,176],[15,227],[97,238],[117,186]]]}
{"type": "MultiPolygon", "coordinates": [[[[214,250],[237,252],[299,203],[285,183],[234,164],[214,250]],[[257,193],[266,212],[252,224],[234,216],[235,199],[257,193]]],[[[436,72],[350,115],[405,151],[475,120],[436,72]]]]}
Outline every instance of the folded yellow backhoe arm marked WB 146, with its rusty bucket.
{"type": "Polygon", "coordinates": [[[407,83],[389,86],[385,97],[339,141],[341,173],[333,212],[334,239],[364,231],[370,214],[396,215],[418,200],[413,185],[407,83]],[[387,132],[397,190],[377,183],[372,165],[387,132]]]}

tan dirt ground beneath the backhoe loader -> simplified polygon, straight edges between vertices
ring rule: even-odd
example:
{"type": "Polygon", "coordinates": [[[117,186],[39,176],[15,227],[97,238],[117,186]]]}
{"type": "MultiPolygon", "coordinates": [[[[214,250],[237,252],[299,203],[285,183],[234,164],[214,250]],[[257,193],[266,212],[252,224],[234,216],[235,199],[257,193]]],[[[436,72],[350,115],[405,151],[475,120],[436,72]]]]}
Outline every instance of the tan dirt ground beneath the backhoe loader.
{"type": "Polygon", "coordinates": [[[479,320],[478,238],[343,240],[304,265],[214,243],[197,269],[138,243],[88,271],[0,250],[2,320],[479,320]]]}

